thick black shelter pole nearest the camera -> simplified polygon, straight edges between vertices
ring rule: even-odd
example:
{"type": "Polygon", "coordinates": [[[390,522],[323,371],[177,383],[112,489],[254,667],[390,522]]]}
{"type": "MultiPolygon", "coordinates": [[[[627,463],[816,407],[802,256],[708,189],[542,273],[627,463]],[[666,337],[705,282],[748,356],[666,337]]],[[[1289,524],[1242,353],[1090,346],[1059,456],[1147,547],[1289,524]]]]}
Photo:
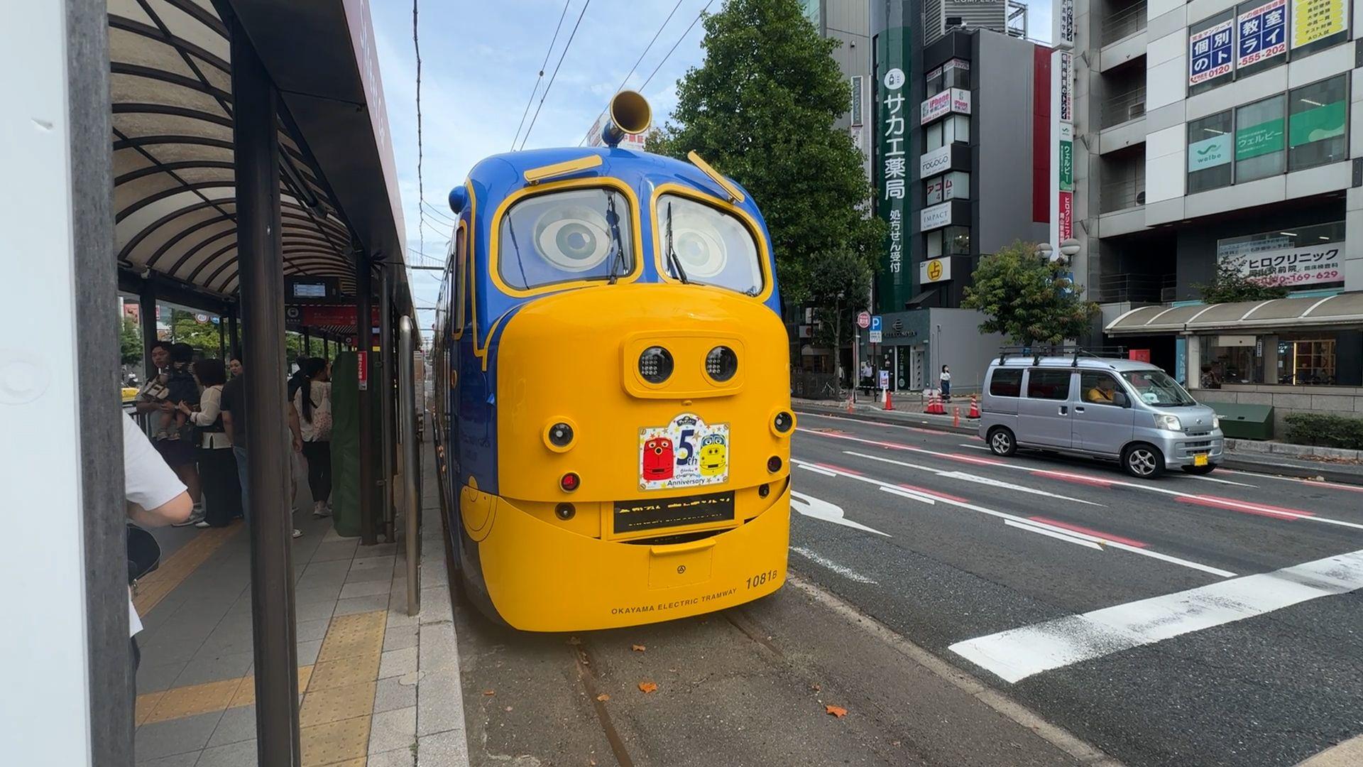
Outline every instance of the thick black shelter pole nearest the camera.
{"type": "Polygon", "coordinates": [[[251,534],[251,624],[255,639],[256,759],[297,767],[298,671],[294,644],[285,439],[284,252],[279,240],[278,94],[240,25],[232,25],[236,106],[237,259],[241,319],[251,329],[247,370],[247,476],[251,534]]]}

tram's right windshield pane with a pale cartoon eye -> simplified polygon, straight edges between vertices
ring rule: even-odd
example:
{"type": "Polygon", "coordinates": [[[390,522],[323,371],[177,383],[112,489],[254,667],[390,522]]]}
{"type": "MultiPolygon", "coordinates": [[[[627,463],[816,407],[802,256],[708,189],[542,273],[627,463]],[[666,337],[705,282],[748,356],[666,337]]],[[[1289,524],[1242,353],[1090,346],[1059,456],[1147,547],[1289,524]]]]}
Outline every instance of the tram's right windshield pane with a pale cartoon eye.
{"type": "Polygon", "coordinates": [[[675,194],[658,197],[656,221],[669,277],[755,296],[762,265],[752,232],[736,216],[675,194]]]}

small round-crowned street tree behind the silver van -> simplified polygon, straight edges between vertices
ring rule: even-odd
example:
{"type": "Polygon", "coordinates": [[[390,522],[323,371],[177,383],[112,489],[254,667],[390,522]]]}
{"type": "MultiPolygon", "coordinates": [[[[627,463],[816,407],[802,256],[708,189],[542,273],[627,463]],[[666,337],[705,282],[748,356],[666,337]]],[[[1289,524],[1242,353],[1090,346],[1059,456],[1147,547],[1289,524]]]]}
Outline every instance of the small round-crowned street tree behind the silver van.
{"type": "Polygon", "coordinates": [[[1069,266],[1036,255],[1036,244],[1014,242],[980,259],[961,306],[984,313],[981,333],[1003,333],[1022,345],[1078,338],[1099,306],[1082,298],[1069,266]]]}

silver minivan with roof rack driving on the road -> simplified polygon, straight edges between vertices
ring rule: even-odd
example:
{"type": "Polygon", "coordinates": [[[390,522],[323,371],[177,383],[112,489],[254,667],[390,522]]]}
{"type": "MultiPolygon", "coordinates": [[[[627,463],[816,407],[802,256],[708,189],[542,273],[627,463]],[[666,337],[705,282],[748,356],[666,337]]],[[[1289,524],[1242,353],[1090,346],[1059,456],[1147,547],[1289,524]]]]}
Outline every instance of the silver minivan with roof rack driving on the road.
{"type": "Polygon", "coordinates": [[[1007,355],[985,374],[980,437],[998,456],[1018,448],[1115,459],[1127,474],[1209,474],[1221,463],[1216,412],[1167,373],[1108,358],[1007,355]]]}

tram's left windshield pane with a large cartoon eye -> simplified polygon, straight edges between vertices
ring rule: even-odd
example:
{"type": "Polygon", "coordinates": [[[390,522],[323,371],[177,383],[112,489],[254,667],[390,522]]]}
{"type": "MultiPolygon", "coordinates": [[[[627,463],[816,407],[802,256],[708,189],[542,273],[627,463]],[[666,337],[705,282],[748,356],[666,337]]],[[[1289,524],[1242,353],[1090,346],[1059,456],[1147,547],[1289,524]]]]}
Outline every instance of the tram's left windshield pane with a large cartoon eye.
{"type": "Polygon", "coordinates": [[[634,272],[630,203],[617,191],[574,190],[523,199],[502,217],[497,272],[514,289],[634,272]]]}

